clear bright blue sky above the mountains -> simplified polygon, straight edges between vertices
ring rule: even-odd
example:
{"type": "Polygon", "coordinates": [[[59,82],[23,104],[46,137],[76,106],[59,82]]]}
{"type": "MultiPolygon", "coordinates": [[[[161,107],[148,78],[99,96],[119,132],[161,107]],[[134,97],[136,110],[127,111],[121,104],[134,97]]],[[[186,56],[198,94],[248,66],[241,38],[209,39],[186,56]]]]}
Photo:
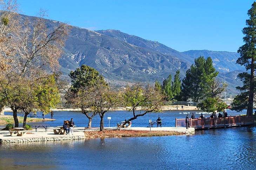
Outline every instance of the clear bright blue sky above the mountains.
{"type": "Polygon", "coordinates": [[[178,51],[237,52],[253,0],[18,0],[21,13],[90,30],[116,29],[178,51]]]}

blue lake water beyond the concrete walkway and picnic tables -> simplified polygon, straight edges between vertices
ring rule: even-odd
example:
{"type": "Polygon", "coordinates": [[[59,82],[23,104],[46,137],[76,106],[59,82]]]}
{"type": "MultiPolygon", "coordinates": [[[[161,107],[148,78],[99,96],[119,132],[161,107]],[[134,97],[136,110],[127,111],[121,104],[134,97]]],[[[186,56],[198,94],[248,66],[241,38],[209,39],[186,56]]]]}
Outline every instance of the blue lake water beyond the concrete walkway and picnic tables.
{"type": "MultiPolygon", "coordinates": [[[[158,117],[161,117],[163,120],[162,126],[171,127],[175,126],[175,117],[176,118],[186,118],[186,115],[194,112],[196,118],[201,116],[202,111],[164,111],[163,113],[148,113],[145,116],[138,117],[137,119],[132,121],[133,127],[147,127],[149,125],[149,119],[155,121],[158,117]]],[[[6,115],[12,115],[12,112],[5,113],[6,115]]],[[[246,111],[243,112],[235,112],[228,110],[228,116],[236,116],[239,114],[246,114],[246,111]]],[[[39,113],[40,118],[42,118],[42,114],[39,113]]],[[[210,117],[211,113],[205,114],[206,117],[210,117]]],[[[22,114],[18,114],[18,116],[22,116],[22,114]]],[[[124,119],[129,119],[133,117],[132,112],[126,111],[115,111],[115,112],[107,112],[104,117],[104,126],[108,127],[109,120],[107,117],[111,117],[110,120],[110,127],[116,126],[119,121],[124,121],[124,119]]],[[[50,118],[50,114],[46,114],[45,118],[50,118]]],[[[46,122],[38,122],[38,123],[27,123],[30,125],[36,124],[47,124],[50,126],[62,126],[63,120],[70,120],[71,118],[74,119],[75,125],[79,127],[87,127],[88,126],[88,118],[82,114],[81,112],[70,112],[70,111],[59,111],[54,112],[53,118],[56,119],[55,121],[46,121],[46,122]]],[[[0,125],[5,126],[5,125],[0,125]]],[[[22,124],[20,124],[22,126],[22,124]]],[[[92,127],[100,127],[100,116],[96,115],[93,117],[92,127]]]]}

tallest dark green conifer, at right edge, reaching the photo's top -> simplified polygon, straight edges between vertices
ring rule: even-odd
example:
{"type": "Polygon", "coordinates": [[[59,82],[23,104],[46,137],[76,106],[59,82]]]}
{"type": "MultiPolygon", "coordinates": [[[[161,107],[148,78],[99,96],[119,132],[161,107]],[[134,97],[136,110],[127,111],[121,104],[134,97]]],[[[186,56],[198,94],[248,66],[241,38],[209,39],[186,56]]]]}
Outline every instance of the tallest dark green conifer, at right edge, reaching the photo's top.
{"type": "Polygon", "coordinates": [[[242,30],[243,34],[245,35],[243,37],[245,44],[242,45],[237,51],[240,53],[240,57],[237,59],[236,63],[244,65],[246,70],[250,71],[247,116],[252,116],[256,68],[256,2],[252,3],[252,7],[248,10],[247,14],[249,15],[249,19],[246,20],[246,25],[248,27],[245,27],[242,30]]]}

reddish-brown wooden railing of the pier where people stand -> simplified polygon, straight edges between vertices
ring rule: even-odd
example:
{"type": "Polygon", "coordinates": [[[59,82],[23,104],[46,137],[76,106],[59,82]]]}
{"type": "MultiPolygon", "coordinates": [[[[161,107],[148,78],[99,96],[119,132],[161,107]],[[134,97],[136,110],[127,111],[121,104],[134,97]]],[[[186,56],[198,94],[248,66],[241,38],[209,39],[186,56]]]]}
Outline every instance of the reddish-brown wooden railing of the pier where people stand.
{"type": "MultiPolygon", "coordinates": [[[[230,116],[226,118],[190,119],[190,127],[204,128],[215,126],[236,126],[254,124],[254,116],[230,116]]],[[[175,127],[186,127],[186,119],[175,118],[175,127]]]]}

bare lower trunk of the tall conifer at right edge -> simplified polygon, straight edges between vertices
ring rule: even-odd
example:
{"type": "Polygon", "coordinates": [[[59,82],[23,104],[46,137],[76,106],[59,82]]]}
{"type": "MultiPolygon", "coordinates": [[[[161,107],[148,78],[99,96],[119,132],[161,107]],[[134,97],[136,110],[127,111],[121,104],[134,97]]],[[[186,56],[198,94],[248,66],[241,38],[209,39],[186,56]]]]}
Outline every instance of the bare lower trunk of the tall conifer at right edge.
{"type": "Polygon", "coordinates": [[[250,76],[250,91],[249,91],[249,101],[246,116],[252,116],[253,112],[253,95],[254,95],[254,58],[251,59],[251,76],[250,76]]]}

